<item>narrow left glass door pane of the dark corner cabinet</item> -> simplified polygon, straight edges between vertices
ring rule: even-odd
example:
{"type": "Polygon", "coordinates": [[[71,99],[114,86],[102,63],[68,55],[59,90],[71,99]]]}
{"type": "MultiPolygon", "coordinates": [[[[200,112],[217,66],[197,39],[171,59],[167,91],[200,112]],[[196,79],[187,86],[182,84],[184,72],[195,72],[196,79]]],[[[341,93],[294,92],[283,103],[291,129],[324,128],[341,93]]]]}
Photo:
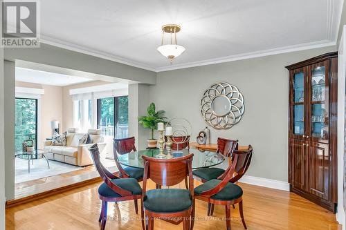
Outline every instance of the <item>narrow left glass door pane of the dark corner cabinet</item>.
{"type": "Polygon", "coordinates": [[[293,73],[293,135],[304,135],[304,70],[296,70],[293,73]]]}

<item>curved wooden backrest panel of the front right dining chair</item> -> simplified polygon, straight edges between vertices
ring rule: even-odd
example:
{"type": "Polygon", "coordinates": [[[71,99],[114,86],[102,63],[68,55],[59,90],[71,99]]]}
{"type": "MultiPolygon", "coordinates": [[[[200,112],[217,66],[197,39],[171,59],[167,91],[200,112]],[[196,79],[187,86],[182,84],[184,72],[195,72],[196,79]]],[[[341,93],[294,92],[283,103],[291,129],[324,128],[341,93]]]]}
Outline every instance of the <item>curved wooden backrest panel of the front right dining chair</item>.
{"type": "Polygon", "coordinates": [[[246,151],[235,150],[233,152],[233,156],[234,155],[238,156],[238,160],[237,160],[237,164],[235,166],[236,175],[230,180],[230,182],[232,182],[232,183],[235,183],[240,178],[242,178],[243,175],[248,170],[248,166],[250,166],[251,159],[253,157],[253,147],[251,145],[249,145],[248,149],[246,151]]]}

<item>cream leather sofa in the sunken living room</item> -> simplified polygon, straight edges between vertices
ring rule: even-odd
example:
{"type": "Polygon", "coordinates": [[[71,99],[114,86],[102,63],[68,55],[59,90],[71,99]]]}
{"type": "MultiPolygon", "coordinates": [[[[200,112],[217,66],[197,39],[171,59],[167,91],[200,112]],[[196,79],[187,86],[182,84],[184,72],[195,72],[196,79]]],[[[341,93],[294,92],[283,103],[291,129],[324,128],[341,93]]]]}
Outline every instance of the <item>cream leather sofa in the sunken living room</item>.
{"type": "Polygon", "coordinates": [[[73,164],[75,166],[87,166],[93,164],[89,148],[97,143],[100,153],[105,149],[106,143],[102,137],[102,130],[89,129],[92,144],[79,144],[85,133],[77,133],[76,128],[69,128],[66,133],[66,146],[52,146],[51,140],[44,142],[44,153],[49,160],[73,164]]]}

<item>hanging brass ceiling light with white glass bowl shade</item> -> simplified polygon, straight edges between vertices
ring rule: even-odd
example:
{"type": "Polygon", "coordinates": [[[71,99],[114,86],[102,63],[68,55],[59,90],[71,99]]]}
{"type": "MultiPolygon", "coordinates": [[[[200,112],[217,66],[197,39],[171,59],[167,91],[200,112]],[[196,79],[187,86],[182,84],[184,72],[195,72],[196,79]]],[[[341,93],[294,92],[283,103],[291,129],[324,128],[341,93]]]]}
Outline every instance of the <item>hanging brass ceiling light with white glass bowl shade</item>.
{"type": "Polygon", "coordinates": [[[170,60],[171,65],[173,64],[173,59],[181,55],[185,48],[183,46],[179,46],[176,44],[176,33],[181,30],[181,27],[175,24],[168,24],[162,26],[162,40],[161,46],[158,46],[157,50],[161,53],[161,55],[167,57],[170,60]],[[171,35],[171,44],[163,45],[163,37],[165,36],[165,32],[171,35]],[[174,35],[174,42],[173,42],[174,35]]]}

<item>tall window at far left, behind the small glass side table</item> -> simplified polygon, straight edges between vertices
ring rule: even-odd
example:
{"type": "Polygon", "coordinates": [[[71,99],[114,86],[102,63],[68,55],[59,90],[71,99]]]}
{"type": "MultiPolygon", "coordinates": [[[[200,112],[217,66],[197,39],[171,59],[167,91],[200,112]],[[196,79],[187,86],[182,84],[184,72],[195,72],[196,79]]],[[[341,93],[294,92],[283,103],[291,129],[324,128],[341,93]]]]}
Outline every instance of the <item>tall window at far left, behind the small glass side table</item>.
{"type": "Polygon", "coordinates": [[[15,99],[15,150],[24,140],[33,140],[37,149],[37,99],[15,99]]]}

